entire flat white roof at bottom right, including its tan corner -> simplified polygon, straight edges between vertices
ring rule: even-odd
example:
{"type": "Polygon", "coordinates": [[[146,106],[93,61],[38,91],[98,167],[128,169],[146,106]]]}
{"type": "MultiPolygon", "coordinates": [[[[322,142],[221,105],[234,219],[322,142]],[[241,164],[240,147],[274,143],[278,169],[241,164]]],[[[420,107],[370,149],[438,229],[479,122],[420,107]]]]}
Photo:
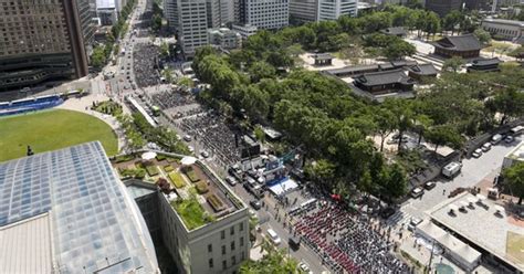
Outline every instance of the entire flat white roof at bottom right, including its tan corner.
{"type": "Polygon", "coordinates": [[[503,207],[464,192],[436,205],[428,214],[469,242],[524,270],[524,222],[503,207]]]}

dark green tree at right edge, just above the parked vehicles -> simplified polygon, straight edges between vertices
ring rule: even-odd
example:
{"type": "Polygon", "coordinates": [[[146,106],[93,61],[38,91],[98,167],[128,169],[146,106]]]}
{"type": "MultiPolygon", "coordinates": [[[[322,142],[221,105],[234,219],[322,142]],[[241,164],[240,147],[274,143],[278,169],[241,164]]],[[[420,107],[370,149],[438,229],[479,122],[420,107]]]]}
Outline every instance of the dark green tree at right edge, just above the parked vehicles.
{"type": "Polygon", "coordinates": [[[485,105],[493,113],[502,114],[501,125],[504,125],[509,117],[524,115],[524,93],[506,88],[489,99],[485,105]]]}

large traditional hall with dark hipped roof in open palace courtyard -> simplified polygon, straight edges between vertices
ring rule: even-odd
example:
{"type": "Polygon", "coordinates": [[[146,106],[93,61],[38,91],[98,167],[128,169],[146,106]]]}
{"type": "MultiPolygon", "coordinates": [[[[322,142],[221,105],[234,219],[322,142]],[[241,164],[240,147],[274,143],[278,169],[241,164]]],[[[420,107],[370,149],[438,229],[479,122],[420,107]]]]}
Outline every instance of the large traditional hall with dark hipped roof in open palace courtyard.
{"type": "Polygon", "coordinates": [[[479,57],[481,42],[473,34],[446,36],[431,43],[434,54],[443,57],[459,56],[463,59],[479,57]]]}

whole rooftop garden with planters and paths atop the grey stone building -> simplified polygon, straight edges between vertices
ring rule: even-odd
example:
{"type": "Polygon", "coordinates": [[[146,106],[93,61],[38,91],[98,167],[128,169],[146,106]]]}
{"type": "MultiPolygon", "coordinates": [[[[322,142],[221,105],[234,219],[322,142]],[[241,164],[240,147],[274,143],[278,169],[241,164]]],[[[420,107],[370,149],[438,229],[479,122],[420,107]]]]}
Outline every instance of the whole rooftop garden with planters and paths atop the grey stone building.
{"type": "MultiPolygon", "coordinates": [[[[122,178],[135,177],[150,186],[157,185],[188,231],[243,208],[219,177],[193,157],[156,152],[156,157],[148,160],[120,156],[113,162],[122,178]]],[[[132,188],[128,191],[142,194],[145,190],[132,188]]]]}

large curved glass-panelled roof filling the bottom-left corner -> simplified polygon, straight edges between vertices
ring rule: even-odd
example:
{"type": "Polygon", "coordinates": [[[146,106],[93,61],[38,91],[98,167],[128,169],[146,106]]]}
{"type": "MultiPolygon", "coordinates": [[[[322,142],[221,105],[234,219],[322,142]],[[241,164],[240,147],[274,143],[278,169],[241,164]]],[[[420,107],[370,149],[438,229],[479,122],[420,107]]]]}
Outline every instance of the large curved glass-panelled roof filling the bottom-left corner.
{"type": "Polygon", "coordinates": [[[0,197],[2,271],[158,271],[147,226],[98,141],[0,162],[0,197]]]}

